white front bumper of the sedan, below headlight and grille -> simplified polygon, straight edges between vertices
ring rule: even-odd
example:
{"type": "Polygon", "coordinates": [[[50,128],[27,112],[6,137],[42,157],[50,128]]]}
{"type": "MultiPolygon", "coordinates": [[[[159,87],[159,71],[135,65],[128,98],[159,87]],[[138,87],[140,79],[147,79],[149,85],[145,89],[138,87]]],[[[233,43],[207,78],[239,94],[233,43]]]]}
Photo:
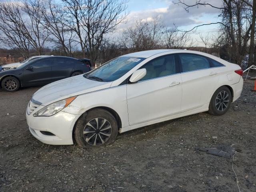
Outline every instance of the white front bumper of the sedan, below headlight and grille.
{"type": "Polygon", "coordinates": [[[72,131],[79,116],[60,111],[50,117],[26,114],[26,119],[31,134],[41,142],[51,145],[72,145],[72,131]],[[54,135],[46,135],[44,132],[54,135]]]}

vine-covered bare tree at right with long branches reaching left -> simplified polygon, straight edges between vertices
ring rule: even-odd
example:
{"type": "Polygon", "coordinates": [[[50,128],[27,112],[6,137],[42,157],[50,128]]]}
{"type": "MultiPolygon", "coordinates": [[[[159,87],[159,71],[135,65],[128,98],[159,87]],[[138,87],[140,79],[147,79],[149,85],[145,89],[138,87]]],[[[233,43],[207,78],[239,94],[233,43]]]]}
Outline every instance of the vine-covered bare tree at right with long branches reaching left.
{"type": "Polygon", "coordinates": [[[250,6],[248,6],[248,4],[246,4],[244,1],[240,0],[222,0],[222,2],[222,7],[216,7],[209,3],[203,3],[201,0],[197,0],[191,5],[188,5],[181,0],[178,0],[178,2],[175,3],[182,4],[187,12],[189,11],[189,8],[194,6],[210,6],[214,9],[220,10],[220,22],[200,24],[191,30],[183,32],[195,32],[200,26],[218,24],[220,26],[220,34],[222,34],[222,37],[218,39],[224,39],[224,41],[219,42],[219,45],[223,45],[223,42],[225,42],[225,44],[230,44],[232,49],[230,52],[230,61],[241,64],[244,55],[246,54],[248,40],[250,39],[250,31],[252,28],[250,18],[252,8],[250,8],[250,6]]]}

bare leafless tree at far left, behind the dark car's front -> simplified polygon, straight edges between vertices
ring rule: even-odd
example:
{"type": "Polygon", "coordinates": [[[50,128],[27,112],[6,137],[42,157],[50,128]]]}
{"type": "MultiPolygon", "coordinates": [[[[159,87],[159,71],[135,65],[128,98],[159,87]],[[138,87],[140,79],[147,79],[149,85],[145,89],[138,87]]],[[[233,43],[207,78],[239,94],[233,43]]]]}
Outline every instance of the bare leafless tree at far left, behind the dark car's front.
{"type": "Polygon", "coordinates": [[[42,53],[48,29],[40,24],[42,0],[4,1],[0,3],[0,40],[9,47],[17,47],[26,56],[34,48],[42,53]]]}

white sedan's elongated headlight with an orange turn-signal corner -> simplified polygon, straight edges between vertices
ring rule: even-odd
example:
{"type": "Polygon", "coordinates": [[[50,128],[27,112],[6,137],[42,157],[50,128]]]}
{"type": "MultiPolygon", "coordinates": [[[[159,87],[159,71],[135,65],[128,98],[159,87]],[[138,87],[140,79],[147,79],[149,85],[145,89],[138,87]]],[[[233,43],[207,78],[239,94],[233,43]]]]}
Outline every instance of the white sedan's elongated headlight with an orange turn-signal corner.
{"type": "Polygon", "coordinates": [[[52,103],[40,109],[38,112],[34,113],[33,116],[52,116],[58,113],[60,110],[64,109],[66,106],[68,106],[75,98],[76,96],[52,103]]]}

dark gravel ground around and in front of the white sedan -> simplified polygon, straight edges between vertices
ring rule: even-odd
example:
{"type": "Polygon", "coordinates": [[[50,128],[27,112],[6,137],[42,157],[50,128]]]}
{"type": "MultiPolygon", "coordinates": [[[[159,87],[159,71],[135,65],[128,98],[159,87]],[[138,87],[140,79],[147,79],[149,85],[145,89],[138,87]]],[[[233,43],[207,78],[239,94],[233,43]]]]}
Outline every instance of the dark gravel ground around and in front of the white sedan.
{"type": "Polygon", "coordinates": [[[233,146],[241,192],[256,191],[256,92],[242,96],[223,116],[207,112],[119,134],[110,146],[84,150],[36,140],[25,110],[40,87],[0,90],[0,191],[234,192],[232,159],[195,151],[233,146]],[[217,137],[213,139],[212,137],[217,137]]]}

